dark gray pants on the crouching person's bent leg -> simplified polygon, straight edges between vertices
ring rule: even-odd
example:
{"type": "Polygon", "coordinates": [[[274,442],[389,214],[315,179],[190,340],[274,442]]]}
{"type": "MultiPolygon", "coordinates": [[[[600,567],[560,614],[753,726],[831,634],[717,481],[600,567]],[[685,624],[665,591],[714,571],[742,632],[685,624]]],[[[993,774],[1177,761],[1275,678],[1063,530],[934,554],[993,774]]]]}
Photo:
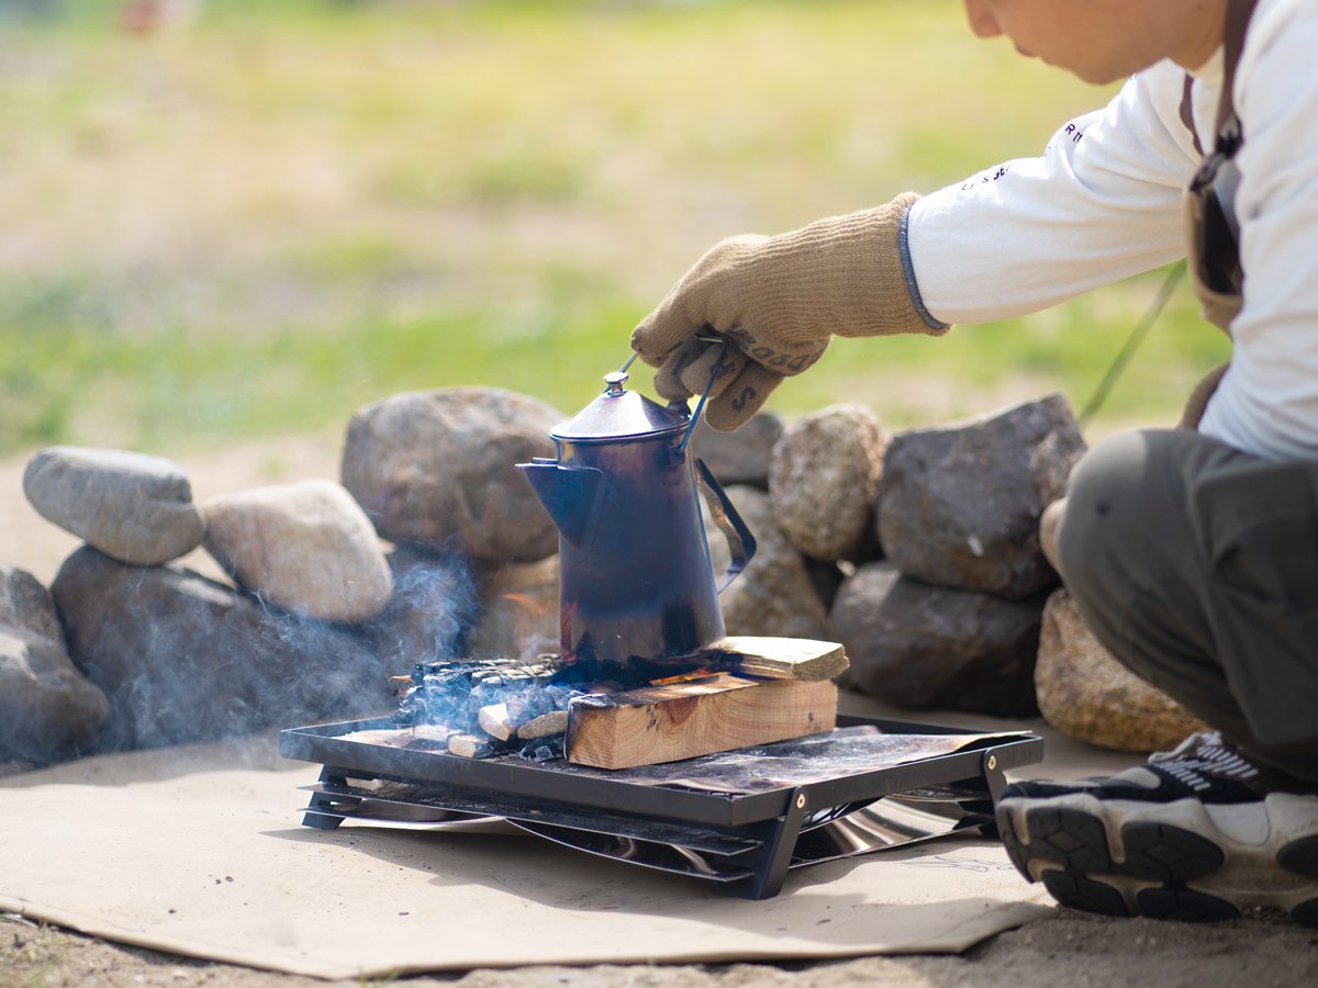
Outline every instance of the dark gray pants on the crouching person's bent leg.
{"type": "Polygon", "coordinates": [[[1128,432],[1070,478],[1062,577],[1119,661],[1230,740],[1318,781],[1318,462],[1128,432]]]}

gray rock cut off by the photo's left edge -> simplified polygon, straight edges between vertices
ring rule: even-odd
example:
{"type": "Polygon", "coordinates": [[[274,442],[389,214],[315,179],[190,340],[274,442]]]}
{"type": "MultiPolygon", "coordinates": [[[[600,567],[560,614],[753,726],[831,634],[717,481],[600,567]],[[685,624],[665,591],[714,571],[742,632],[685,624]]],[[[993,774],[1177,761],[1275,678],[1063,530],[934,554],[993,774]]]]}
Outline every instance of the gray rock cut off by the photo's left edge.
{"type": "Polygon", "coordinates": [[[0,566],[0,761],[86,751],[108,710],[105,694],[69,661],[46,588],[0,566]]]}

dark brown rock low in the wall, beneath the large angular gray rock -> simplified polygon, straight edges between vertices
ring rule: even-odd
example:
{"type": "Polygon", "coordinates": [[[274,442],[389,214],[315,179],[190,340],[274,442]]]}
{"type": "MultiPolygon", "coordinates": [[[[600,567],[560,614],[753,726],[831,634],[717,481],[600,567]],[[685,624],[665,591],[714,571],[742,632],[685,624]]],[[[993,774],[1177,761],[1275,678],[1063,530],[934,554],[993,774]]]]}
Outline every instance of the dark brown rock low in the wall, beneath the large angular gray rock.
{"type": "Polygon", "coordinates": [[[844,684],[915,710],[1037,713],[1035,656],[1044,601],[1006,601],[861,566],[838,591],[829,635],[846,647],[844,684]]]}

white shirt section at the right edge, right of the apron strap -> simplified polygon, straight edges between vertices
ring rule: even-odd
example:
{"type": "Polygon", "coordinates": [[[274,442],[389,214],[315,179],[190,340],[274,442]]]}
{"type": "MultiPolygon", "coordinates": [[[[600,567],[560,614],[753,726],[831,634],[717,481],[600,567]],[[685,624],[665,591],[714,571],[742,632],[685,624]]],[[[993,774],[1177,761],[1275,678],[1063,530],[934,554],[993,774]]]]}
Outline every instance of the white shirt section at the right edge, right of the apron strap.
{"type": "Polygon", "coordinates": [[[1318,7],[1260,4],[1236,69],[1244,132],[1244,307],[1199,432],[1273,460],[1318,458],[1318,7]]]}

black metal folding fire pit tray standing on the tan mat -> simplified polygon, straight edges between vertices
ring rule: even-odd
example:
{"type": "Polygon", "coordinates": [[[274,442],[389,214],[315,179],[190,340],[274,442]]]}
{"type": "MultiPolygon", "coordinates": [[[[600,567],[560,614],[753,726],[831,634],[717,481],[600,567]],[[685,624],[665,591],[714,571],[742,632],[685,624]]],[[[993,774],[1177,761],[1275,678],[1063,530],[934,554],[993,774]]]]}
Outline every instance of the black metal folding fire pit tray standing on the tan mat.
{"type": "MultiPolygon", "coordinates": [[[[944,725],[838,714],[838,727],[884,734],[971,735],[944,725]]],[[[718,883],[741,898],[778,894],[791,867],[871,854],[953,834],[996,837],[1003,772],[1043,760],[1027,731],[994,734],[950,755],[751,794],[572,775],[514,759],[464,759],[345,740],[389,730],[387,718],[295,727],[279,754],[324,765],[306,786],[303,825],[344,819],[434,825],[505,819],[538,837],[616,860],[718,883]],[[353,781],[349,781],[353,780],[353,781]]]]}

